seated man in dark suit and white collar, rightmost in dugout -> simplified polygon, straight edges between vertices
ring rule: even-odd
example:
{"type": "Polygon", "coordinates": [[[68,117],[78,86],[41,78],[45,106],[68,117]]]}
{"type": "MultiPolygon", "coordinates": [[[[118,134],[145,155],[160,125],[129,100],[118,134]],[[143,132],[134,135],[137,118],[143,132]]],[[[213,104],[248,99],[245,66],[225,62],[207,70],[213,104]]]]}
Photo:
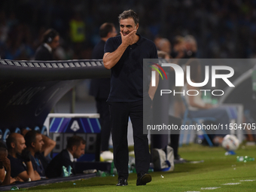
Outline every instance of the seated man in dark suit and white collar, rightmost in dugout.
{"type": "Polygon", "coordinates": [[[47,178],[56,178],[62,176],[62,166],[67,169],[69,166],[72,167],[72,174],[75,175],[74,158],[81,157],[84,154],[85,141],[80,136],[72,136],[68,140],[66,149],[63,149],[53,160],[50,161],[45,175],[47,178]]]}

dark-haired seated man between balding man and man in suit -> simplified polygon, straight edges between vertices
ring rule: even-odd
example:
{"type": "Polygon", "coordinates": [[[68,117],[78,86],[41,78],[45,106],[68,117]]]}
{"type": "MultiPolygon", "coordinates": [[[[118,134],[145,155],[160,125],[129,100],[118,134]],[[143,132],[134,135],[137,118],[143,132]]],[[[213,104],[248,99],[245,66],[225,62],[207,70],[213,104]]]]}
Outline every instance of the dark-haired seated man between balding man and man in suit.
{"type": "Polygon", "coordinates": [[[35,130],[30,130],[28,133],[26,133],[25,141],[26,150],[29,150],[31,153],[30,159],[33,169],[38,172],[41,178],[45,178],[44,166],[41,163],[45,161],[45,157],[40,153],[44,145],[41,133],[38,133],[35,130]]]}

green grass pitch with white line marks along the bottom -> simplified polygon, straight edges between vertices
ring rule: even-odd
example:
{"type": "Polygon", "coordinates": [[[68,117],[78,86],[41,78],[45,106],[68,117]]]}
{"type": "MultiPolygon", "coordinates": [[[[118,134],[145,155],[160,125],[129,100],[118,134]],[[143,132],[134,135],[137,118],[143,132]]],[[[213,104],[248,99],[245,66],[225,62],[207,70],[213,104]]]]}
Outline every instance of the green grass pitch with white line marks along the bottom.
{"type": "MultiPolygon", "coordinates": [[[[240,145],[236,155],[225,156],[223,148],[184,145],[181,157],[203,163],[176,164],[173,172],[152,172],[152,181],[136,186],[136,174],[130,174],[128,186],[116,187],[117,176],[31,187],[27,191],[256,191],[256,161],[236,162],[236,156],[256,157],[256,146],[240,145]],[[216,187],[215,189],[213,187],[216,187]]],[[[22,189],[20,189],[22,190],[22,189]]]]}

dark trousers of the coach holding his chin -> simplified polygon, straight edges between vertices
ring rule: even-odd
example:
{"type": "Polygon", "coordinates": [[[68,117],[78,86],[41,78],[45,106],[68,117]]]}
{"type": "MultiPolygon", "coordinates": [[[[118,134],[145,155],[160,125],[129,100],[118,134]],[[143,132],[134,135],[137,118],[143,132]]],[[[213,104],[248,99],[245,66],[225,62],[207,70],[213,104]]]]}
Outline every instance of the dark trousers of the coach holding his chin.
{"type": "Polygon", "coordinates": [[[111,133],[114,148],[114,166],[118,178],[128,178],[129,151],[127,142],[127,126],[129,117],[133,124],[134,152],[136,157],[136,172],[148,172],[150,154],[148,135],[143,134],[143,101],[138,102],[108,102],[111,115],[111,133]]]}

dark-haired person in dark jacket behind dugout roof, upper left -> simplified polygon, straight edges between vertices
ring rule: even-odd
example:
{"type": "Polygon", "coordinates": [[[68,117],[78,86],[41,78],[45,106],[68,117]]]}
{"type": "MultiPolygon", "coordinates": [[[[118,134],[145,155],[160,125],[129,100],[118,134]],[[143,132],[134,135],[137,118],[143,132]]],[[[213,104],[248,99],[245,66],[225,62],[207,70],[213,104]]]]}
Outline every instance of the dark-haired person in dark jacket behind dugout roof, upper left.
{"type": "Polygon", "coordinates": [[[53,50],[59,46],[59,33],[54,29],[44,32],[42,44],[35,51],[35,60],[53,60],[53,50]]]}

